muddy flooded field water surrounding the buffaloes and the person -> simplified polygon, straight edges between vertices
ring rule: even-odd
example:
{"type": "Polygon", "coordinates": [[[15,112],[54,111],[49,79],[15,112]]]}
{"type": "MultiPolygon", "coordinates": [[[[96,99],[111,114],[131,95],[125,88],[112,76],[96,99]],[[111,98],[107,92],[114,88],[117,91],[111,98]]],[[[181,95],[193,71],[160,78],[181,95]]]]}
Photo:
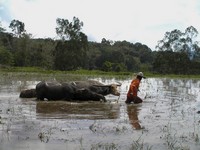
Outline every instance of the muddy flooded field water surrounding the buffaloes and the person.
{"type": "Polygon", "coordinates": [[[200,149],[200,81],[142,80],[142,104],[126,105],[127,80],[120,97],[108,102],[21,99],[39,81],[1,78],[0,150],[200,149]]]}

